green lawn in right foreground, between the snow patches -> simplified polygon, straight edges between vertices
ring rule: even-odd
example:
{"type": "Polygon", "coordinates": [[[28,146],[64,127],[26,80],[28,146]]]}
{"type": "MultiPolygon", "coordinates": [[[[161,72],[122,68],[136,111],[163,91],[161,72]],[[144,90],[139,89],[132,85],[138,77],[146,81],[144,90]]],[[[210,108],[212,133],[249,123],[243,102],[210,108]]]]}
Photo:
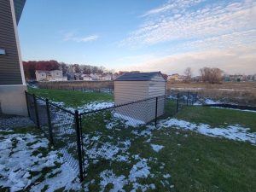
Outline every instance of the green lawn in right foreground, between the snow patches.
{"type": "MultiPolygon", "coordinates": [[[[175,114],[175,103],[166,103],[166,113],[162,118],[185,119],[195,123],[206,123],[212,126],[240,124],[253,127],[255,113],[247,113],[230,109],[189,107],[183,108],[175,114]],[[207,115],[209,113],[209,116],[207,115]],[[212,118],[211,116],[214,116],[212,118]],[[205,118],[204,118],[205,117],[205,118]],[[239,118],[238,118],[239,117],[239,118]]],[[[139,183],[154,183],[158,191],[254,191],[256,183],[256,147],[251,143],[231,141],[225,138],[207,137],[193,131],[180,131],[174,128],[154,130],[150,143],[165,146],[159,153],[154,152],[150,143],[146,143],[149,137],[136,137],[131,131],[146,130],[146,126],[138,128],[125,128],[118,122],[112,130],[105,128],[109,122],[114,122],[111,113],[96,113],[83,119],[83,132],[91,137],[101,136],[96,142],[97,148],[103,143],[118,145],[118,141],[131,140],[131,148],[128,152],[139,154],[141,158],[156,158],[148,161],[150,172],[154,178],[140,178],[139,183]],[[120,129],[120,130],[119,130],[120,129]],[[108,136],[113,137],[109,139],[108,136]],[[160,166],[165,164],[164,169],[160,166]],[[163,174],[170,173],[172,177],[164,178],[163,174]],[[170,184],[163,186],[160,181],[168,181],[170,184]],[[174,185],[173,189],[169,186],[174,185]]],[[[253,129],[252,129],[253,131],[253,129]]],[[[91,143],[91,146],[95,143],[91,143]]],[[[91,147],[90,146],[90,147],[91,147]]],[[[89,147],[89,148],[90,148],[89,147]]],[[[85,149],[86,150],[86,149],[85,149]]],[[[96,179],[90,184],[91,191],[98,191],[104,170],[113,170],[117,175],[129,176],[131,168],[137,163],[131,158],[131,162],[118,162],[98,159],[96,164],[90,161],[84,183],[96,179]]],[[[106,191],[112,189],[111,184],[106,191]]],[[[126,191],[132,189],[127,184],[126,191]]]]}

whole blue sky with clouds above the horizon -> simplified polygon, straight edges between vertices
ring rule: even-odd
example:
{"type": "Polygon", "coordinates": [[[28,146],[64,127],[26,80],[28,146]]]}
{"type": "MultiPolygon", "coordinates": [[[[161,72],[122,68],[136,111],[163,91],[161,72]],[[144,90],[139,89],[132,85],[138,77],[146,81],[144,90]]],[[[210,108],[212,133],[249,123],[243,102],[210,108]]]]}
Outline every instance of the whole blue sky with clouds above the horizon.
{"type": "Polygon", "coordinates": [[[256,73],[256,1],[27,0],[23,60],[183,73],[256,73]]]}

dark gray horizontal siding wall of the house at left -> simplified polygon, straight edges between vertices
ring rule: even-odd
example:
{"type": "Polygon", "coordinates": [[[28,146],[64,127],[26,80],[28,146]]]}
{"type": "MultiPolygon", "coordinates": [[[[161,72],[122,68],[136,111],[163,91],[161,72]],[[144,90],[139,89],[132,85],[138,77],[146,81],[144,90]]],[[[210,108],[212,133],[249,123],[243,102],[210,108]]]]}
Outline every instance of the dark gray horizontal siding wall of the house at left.
{"type": "Polygon", "coordinates": [[[22,84],[15,28],[9,0],[0,1],[0,85],[22,84]]]}

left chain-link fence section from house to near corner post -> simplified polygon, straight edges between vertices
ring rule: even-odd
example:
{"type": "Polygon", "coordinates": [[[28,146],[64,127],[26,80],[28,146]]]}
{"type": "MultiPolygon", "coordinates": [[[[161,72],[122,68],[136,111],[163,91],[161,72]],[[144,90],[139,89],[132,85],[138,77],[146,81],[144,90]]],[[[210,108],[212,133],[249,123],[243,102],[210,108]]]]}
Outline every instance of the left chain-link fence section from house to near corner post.
{"type": "Polygon", "coordinates": [[[76,130],[76,114],[27,92],[26,102],[30,119],[49,139],[49,143],[61,151],[64,160],[79,172],[80,134],[76,130]]]}

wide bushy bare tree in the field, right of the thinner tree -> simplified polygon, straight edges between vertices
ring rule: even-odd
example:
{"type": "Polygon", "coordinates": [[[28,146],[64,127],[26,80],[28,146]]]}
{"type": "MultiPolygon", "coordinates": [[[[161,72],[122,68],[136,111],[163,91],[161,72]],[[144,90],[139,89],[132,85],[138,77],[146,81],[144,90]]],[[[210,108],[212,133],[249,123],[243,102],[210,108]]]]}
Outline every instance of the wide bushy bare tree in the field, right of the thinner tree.
{"type": "Polygon", "coordinates": [[[222,79],[223,71],[219,68],[203,67],[199,70],[201,80],[210,84],[219,84],[222,79]]]}

